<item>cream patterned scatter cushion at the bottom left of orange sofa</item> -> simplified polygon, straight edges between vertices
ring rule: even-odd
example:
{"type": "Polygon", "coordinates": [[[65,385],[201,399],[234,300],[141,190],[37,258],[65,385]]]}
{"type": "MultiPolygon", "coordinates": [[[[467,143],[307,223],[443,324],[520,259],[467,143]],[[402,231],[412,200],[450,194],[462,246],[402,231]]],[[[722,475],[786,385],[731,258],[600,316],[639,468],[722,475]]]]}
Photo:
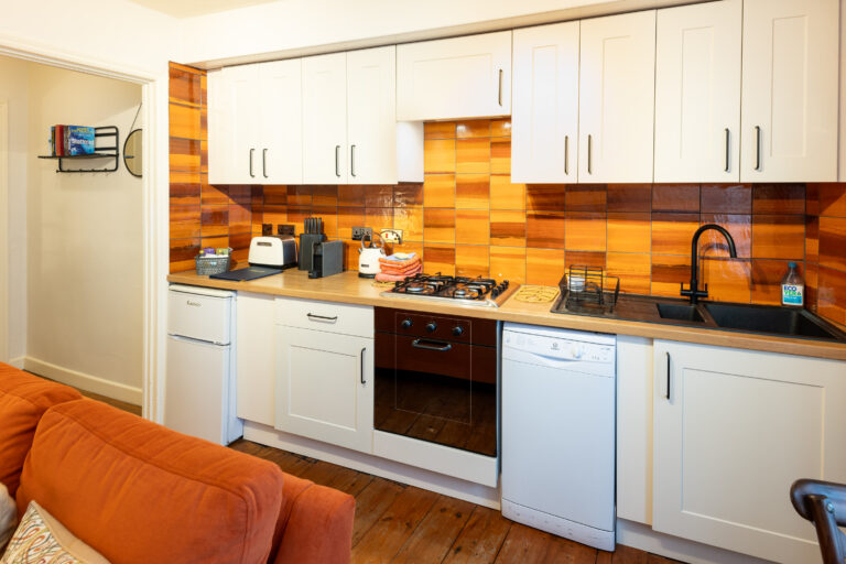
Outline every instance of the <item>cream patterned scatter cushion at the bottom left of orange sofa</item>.
{"type": "Polygon", "coordinates": [[[0,563],[109,564],[35,501],[30,502],[0,563]]]}

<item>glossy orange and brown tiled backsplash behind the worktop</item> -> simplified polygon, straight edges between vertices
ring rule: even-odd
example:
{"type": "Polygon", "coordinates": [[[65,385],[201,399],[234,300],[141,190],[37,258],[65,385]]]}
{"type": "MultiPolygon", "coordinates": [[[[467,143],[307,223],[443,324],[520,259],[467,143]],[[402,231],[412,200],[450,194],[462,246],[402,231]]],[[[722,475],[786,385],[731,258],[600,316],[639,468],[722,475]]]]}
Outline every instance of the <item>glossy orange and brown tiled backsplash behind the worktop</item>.
{"type": "Polygon", "coordinates": [[[679,295],[690,278],[691,236],[714,300],[779,303],[789,261],[807,304],[846,323],[846,184],[512,184],[508,120],[425,126],[425,182],[395,186],[212,186],[205,75],[171,66],[171,270],[191,270],[202,247],[232,247],[245,261],[261,224],[319,216],[346,242],[354,226],[403,229],[394,250],[421,253],[426,272],[556,284],[570,264],[604,267],[626,292],[679,295]]]}

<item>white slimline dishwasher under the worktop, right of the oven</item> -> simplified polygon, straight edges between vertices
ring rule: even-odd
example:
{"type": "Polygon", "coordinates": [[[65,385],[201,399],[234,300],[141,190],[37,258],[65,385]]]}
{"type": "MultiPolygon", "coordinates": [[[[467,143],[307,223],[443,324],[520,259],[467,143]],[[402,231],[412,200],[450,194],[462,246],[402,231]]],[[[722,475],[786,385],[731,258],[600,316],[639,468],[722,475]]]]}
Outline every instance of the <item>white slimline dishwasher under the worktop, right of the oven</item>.
{"type": "Polygon", "coordinates": [[[502,514],[615,549],[615,335],[507,323],[502,514]]]}

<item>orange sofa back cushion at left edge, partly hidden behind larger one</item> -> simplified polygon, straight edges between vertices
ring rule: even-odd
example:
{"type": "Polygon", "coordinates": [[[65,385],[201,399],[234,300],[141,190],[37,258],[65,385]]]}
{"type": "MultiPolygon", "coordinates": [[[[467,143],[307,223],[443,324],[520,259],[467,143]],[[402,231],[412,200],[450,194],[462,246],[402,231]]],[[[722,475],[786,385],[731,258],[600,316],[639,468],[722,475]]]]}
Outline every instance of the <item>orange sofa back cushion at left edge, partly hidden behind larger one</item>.
{"type": "Polygon", "coordinates": [[[0,482],[14,496],[39,420],[51,405],[78,400],[78,391],[0,362],[0,482]]]}

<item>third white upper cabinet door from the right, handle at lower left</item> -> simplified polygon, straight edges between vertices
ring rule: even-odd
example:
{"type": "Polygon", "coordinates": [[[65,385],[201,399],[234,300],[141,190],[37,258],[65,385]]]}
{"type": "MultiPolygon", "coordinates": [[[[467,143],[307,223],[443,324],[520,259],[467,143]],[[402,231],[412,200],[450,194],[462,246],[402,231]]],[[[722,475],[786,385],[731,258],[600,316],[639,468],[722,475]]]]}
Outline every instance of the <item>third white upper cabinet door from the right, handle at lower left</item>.
{"type": "Polygon", "coordinates": [[[578,182],[652,182],[655,12],[582,21],[578,182]]]}

